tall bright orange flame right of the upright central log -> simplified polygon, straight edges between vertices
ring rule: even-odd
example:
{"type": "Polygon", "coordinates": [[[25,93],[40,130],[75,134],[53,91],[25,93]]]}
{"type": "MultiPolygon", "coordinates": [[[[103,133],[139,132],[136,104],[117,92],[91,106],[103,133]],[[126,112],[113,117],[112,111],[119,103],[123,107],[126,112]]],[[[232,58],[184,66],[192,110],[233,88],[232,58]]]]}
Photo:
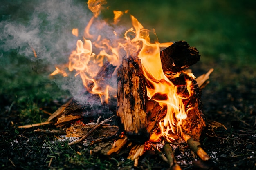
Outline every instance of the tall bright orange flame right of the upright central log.
{"type": "MultiPolygon", "coordinates": [[[[150,137],[150,141],[156,141],[159,137],[164,136],[168,141],[170,139],[175,140],[172,137],[173,133],[179,133],[182,130],[182,120],[186,119],[189,106],[184,106],[182,99],[184,96],[180,96],[177,92],[177,86],[164,75],[162,69],[162,63],[160,60],[160,47],[168,47],[172,43],[161,44],[159,42],[151,43],[149,37],[149,31],[138,22],[136,18],[131,16],[132,25],[134,29],[128,30],[135,34],[135,37],[130,40],[126,37],[126,40],[130,40],[129,44],[139,44],[139,54],[137,55],[141,59],[144,76],[146,78],[147,96],[149,99],[159,102],[159,104],[167,107],[167,113],[164,119],[159,123],[160,133],[154,133],[150,137]],[[161,97],[159,97],[161,96],[161,97]],[[165,98],[165,99],[162,99],[165,98]]],[[[128,34],[126,32],[126,35],[128,34]]],[[[133,54],[130,54],[133,56],[133,54]]],[[[186,73],[191,77],[194,77],[192,73],[186,73]]],[[[180,74],[175,75],[179,77],[180,74]]],[[[173,78],[175,78],[173,77],[173,78]]],[[[193,92],[190,88],[191,81],[187,80],[187,90],[191,95],[193,92]]],[[[187,96],[186,98],[188,98],[187,96]]]]}

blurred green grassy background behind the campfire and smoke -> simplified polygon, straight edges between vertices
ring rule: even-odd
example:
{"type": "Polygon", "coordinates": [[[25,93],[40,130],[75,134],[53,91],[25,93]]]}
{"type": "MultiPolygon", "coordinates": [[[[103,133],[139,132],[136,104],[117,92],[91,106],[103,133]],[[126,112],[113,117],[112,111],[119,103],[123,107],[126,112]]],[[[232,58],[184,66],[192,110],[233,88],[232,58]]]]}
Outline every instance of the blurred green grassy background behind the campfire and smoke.
{"type": "MultiPolygon", "coordinates": [[[[53,2],[63,3],[61,0],[45,1],[45,3],[52,3],[53,6],[58,4],[53,2]]],[[[88,11],[87,1],[67,0],[67,2],[79,10],[88,11]]],[[[51,6],[40,7],[41,3],[39,0],[2,0],[0,30],[5,30],[5,21],[29,26],[30,21],[35,20],[31,18],[35,8],[42,8],[37,15],[39,20],[40,17],[42,20],[38,22],[33,20],[33,22],[40,26],[50,25],[49,17],[58,15],[58,13],[47,13],[47,7],[51,6]]],[[[186,40],[190,46],[195,46],[201,55],[200,62],[192,67],[195,75],[205,73],[210,68],[215,69],[207,89],[218,93],[229,86],[235,86],[237,87],[235,90],[239,90],[244,82],[255,84],[255,0],[108,0],[106,6],[109,7],[108,10],[102,12],[103,18],[110,18],[112,10],[129,9],[130,14],[134,15],[144,28],[155,29],[159,42],[186,40]]],[[[54,8],[58,11],[59,6],[56,5],[54,8]]],[[[57,22],[53,26],[39,30],[36,35],[40,38],[49,29],[49,31],[55,30],[58,34],[51,35],[59,37],[63,34],[70,34],[72,27],[83,28],[84,24],[79,25],[79,20],[85,16],[79,15],[79,11],[73,12],[72,15],[77,15],[76,19],[65,20],[66,13],[63,12],[62,16],[54,18],[57,22]]],[[[90,15],[90,12],[87,13],[90,15]]],[[[32,57],[26,56],[27,53],[20,53],[22,47],[19,45],[16,46],[17,48],[3,49],[7,41],[6,35],[4,38],[1,35],[0,41],[2,44],[2,49],[0,49],[0,111],[10,110],[15,104],[25,117],[34,112],[30,121],[39,121],[40,114],[42,114],[40,107],[69,96],[68,91],[61,90],[58,84],[58,81],[65,81],[65,79],[62,77],[52,79],[48,76],[53,68],[48,58],[53,55],[55,58],[63,55],[65,50],[60,54],[52,53],[48,42],[45,51],[49,51],[49,57],[35,59],[33,53],[31,53],[32,57]]],[[[60,43],[59,46],[62,44],[68,46],[65,43],[60,43]]],[[[68,50],[66,52],[68,56],[68,50]]],[[[62,61],[65,60],[63,58],[64,56],[61,57],[62,61]]],[[[252,88],[255,87],[252,86],[252,88]]],[[[204,102],[207,102],[206,99],[203,99],[204,102]]]]}

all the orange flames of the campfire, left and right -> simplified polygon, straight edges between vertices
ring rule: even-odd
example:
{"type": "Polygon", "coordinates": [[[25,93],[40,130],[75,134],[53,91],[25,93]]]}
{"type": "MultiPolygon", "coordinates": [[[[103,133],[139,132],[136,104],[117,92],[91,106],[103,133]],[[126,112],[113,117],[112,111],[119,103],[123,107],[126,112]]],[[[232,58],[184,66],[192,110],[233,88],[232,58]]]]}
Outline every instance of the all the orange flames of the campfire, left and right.
{"type": "MultiPolygon", "coordinates": [[[[72,51],[69,57],[69,71],[76,71],[75,76],[80,76],[83,80],[83,85],[86,90],[93,94],[98,94],[101,97],[101,102],[108,102],[108,92],[110,86],[102,85],[101,82],[94,79],[101,66],[106,61],[118,66],[120,65],[121,51],[126,51],[126,56],[139,58],[142,63],[144,77],[146,78],[147,96],[149,100],[155,100],[163,108],[167,108],[167,113],[164,119],[159,123],[159,130],[154,132],[150,141],[157,141],[160,137],[165,137],[168,141],[175,140],[172,135],[182,131],[183,120],[186,119],[191,106],[185,106],[182,99],[187,99],[193,94],[191,89],[191,81],[186,80],[186,89],[189,95],[182,95],[178,92],[178,87],[175,86],[170,79],[179,77],[180,74],[189,75],[194,78],[192,73],[182,72],[167,78],[162,69],[160,60],[160,48],[165,48],[173,44],[151,42],[148,29],[145,29],[142,24],[132,15],[132,28],[124,33],[124,38],[116,38],[109,40],[103,38],[103,35],[91,35],[90,28],[94,24],[94,20],[101,12],[105,0],[89,0],[88,7],[94,13],[94,16],[89,21],[84,30],[83,40],[78,40],[76,50],[72,51]],[[94,40],[92,42],[92,40],[94,40]],[[93,51],[96,51],[95,53],[93,51]],[[93,86],[91,85],[93,84],[93,86]]],[[[114,11],[114,24],[119,22],[124,13],[128,11],[114,11]]],[[[101,22],[106,24],[105,22],[101,22]]],[[[102,28],[102,25],[100,25],[102,28]]],[[[78,36],[78,30],[73,29],[73,35],[78,36]]],[[[112,32],[117,36],[115,31],[112,32]]],[[[51,75],[61,73],[65,76],[65,72],[58,67],[51,75]]]]}

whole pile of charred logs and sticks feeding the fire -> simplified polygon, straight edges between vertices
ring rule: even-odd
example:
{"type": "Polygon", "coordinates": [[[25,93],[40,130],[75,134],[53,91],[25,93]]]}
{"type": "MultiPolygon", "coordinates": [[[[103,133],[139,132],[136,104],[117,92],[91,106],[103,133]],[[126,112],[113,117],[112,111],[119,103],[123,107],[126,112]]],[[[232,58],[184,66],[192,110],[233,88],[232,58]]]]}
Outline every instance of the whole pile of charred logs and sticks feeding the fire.
{"type": "MultiPolygon", "coordinates": [[[[188,93],[187,90],[184,90],[186,89],[186,79],[192,82],[193,95],[188,99],[183,99],[182,102],[185,106],[191,105],[193,109],[189,111],[187,118],[184,120],[183,131],[180,134],[173,135],[177,138],[181,137],[186,141],[202,160],[208,160],[210,157],[202,150],[199,143],[201,133],[206,127],[200,97],[202,88],[209,83],[207,79],[209,79],[209,74],[211,74],[213,69],[197,79],[191,78],[186,72],[181,74],[180,77],[172,78],[173,75],[180,73],[185,68],[199,61],[200,55],[198,50],[195,47],[190,47],[185,41],[179,41],[159,52],[164,74],[175,86],[179,86],[179,93],[184,95],[188,93]]],[[[94,79],[97,79],[97,82],[106,84],[106,79],[109,79],[114,71],[115,66],[106,62],[94,79]]],[[[100,134],[100,131],[96,131],[99,128],[102,128],[103,131],[111,132],[113,136],[124,132],[124,134],[116,136],[119,139],[114,142],[107,155],[118,154],[123,147],[129,146],[131,149],[128,158],[135,160],[136,166],[139,157],[144,153],[146,146],[148,147],[148,144],[150,144],[148,142],[150,134],[157,130],[159,122],[166,115],[165,107],[162,108],[157,102],[147,99],[145,81],[140,60],[124,57],[121,66],[117,68],[116,99],[111,98],[111,102],[108,104],[104,103],[97,108],[91,107],[90,104],[78,104],[74,99],[71,99],[56,110],[47,122],[57,120],[55,125],[60,128],[66,127],[67,135],[81,137],[80,141],[70,143],[70,145],[83,141],[92,133],[100,134]],[[107,118],[112,115],[116,117],[112,118],[115,119],[115,123],[112,122],[110,127],[110,124],[106,123],[111,121],[111,119],[107,118]],[[97,122],[96,124],[88,125],[90,120],[95,120],[99,116],[105,120],[101,123],[97,122]],[[82,119],[87,124],[86,126],[76,124],[76,126],[69,127],[70,124],[74,124],[74,122],[82,119]]],[[[88,82],[87,87],[92,88],[93,83],[88,82]]],[[[91,95],[90,97],[93,100],[100,100],[98,95],[88,95],[91,95]]],[[[157,151],[154,144],[151,143],[150,147],[157,151]]],[[[170,144],[166,143],[164,150],[168,156],[166,158],[164,156],[163,159],[170,163],[170,166],[178,167],[176,166],[170,144]]]]}

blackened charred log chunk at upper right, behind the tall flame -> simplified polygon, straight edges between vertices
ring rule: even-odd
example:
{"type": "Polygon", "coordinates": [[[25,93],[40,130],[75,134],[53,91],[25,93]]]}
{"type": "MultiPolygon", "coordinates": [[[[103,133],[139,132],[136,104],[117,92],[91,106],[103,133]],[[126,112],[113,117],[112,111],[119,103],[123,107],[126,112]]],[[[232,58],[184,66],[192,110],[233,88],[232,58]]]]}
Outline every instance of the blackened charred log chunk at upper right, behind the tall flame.
{"type": "Polygon", "coordinates": [[[195,47],[186,41],[177,41],[160,52],[162,68],[165,75],[171,76],[199,61],[200,55],[195,47]]]}

